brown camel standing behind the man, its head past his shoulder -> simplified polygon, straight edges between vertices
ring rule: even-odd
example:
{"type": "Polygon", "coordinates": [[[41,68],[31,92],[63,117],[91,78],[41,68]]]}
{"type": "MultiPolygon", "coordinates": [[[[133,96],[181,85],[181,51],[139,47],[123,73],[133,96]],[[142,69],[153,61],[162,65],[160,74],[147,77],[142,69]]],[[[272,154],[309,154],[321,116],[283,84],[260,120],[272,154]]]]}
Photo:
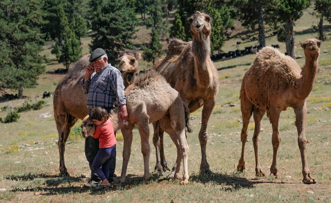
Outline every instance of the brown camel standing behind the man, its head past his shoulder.
{"type": "MultiPolygon", "coordinates": [[[[131,51],[131,54],[135,56],[134,54],[136,53],[131,51]]],[[[119,64],[122,64],[120,65],[122,75],[126,74],[126,72],[132,72],[132,70],[138,70],[137,60],[140,58],[140,55],[136,54],[137,58],[133,62],[131,54],[120,54],[122,56],[119,64]],[[123,64],[122,60],[129,60],[130,62],[123,64]]],[[[83,119],[88,113],[86,107],[87,95],[82,90],[80,80],[85,76],[85,67],[89,64],[89,57],[90,54],[87,54],[73,65],[69,73],[59,82],[54,93],[54,118],[59,133],[60,176],[69,176],[64,163],[64,152],[71,127],[76,123],[77,119],[83,119]]]]}

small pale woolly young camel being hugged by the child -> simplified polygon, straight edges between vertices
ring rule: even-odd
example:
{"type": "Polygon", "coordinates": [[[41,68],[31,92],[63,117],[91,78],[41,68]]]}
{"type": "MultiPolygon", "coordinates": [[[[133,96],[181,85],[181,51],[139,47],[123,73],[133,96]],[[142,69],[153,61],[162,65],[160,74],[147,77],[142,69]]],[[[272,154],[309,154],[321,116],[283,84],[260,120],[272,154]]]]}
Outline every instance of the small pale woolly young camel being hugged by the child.
{"type": "MultiPolygon", "coordinates": [[[[173,89],[163,76],[155,71],[147,72],[135,77],[133,83],[125,90],[126,107],[130,118],[129,126],[123,131],[123,122],[118,119],[119,108],[110,113],[110,120],[113,123],[114,131],[122,128],[123,145],[123,166],[120,182],[125,181],[127,164],[130,158],[132,129],[137,125],[141,138],[141,153],[144,157],[144,178],[143,183],[149,179],[149,126],[148,124],[161,118],[161,126],[170,135],[177,147],[177,166],[174,175],[175,179],[181,178],[180,164],[184,163],[184,176],[181,183],[188,183],[187,155],[189,147],[186,142],[185,126],[188,127],[189,111],[186,104],[180,98],[179,93],[173,89]],[[166,117],[164,117],[167,115],[166,117]],[[164,118],[163,118],[164,117],[164,118]],[[165,121],[165,122],[164,122],[165,121]]],[[[87,137],[95,131],[93,121],[86,116],[82,124],[82,135],[87,137]]]]}

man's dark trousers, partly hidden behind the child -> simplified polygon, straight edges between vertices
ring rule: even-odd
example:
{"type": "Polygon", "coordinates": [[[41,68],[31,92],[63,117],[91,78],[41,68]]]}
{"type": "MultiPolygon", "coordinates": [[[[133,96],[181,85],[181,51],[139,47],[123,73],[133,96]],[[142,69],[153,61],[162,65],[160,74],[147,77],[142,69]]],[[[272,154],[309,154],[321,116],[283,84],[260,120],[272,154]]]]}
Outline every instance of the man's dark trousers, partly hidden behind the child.
{"type": "MultiPolygon", "coordinates": [[[[108,113],[110,112],[111,109],[106,109],[108,113]]],[[[114,132],[116,133],[116,132],[114,132]]],[[[116,134],[115,134],[116,135],[116,134]]],[[[88,164],[91,169],[91,178],[94,181],[100,181],[100,178],[97,176],[97,174],[94,173],[92,169],[92,164],[94,161],[95,156],[97,155],[99,151],[99,139],[93,138],[93,136],[88,136],[85,138],[85,156],[88,161],[88,164]]],[[[109,182],[114,181],[114,172],[115,172],[115,167],[116,167],[116,145],[115,145],[115,158],[113,159],[110,169],[109,169],[109,177],[108,180],[109,182]]]]}

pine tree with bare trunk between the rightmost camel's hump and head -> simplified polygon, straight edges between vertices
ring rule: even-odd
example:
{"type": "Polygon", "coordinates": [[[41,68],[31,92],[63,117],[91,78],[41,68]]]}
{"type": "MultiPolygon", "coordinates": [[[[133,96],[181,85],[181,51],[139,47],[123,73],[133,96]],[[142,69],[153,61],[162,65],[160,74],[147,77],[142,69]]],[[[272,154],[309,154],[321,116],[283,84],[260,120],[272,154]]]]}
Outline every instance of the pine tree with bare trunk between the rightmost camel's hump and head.
{"type": "Polygon", "coordinates": [[[286,52],[294,58],[294,22],[298,20],[303,10],[310,5],[310,0],[279,0],[278,17],[284,23],[286,52]]]}

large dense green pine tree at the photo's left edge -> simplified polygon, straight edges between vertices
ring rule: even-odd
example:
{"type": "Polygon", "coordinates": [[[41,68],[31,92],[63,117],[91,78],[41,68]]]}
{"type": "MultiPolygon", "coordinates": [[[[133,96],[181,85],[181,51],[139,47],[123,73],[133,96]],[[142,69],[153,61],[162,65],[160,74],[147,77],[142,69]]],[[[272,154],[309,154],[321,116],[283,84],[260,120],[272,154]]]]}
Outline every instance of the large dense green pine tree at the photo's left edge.
{"type": "Polygon", "coordinates": [[[45,71],[39,55],[44,37],[40,31],[44,24],[41,7],[39,0],[0,2],[0,89],[18,90],[19,98],[24,88],[35,87],[45,71]]]}

